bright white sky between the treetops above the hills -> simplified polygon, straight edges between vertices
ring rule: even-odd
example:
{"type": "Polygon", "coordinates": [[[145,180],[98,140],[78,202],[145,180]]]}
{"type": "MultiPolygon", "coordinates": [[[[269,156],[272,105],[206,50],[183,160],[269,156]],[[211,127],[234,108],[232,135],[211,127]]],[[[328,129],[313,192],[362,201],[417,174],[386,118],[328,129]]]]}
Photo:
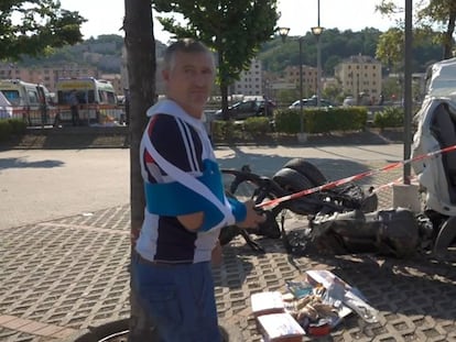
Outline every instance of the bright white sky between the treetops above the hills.
{"type": "MultiPolygon", "coordinates": [[[[394,22],[379,12],[376,4],[381,0],[278,0],[281,18],[278,26],[290,27],[290,35],[304,35],[317,25],[319,1],[319,25],[325,29],[340,31],[360,31],[365,27],[374,27],[386,31],[394,26],[394,22]]],[[[123,36],[122,19],[124,15],[124,0],[61,0],[62,8],[78,11],[88,21],[83,24],[84,38],[97,37],[100,34],[119,34],[123,36]]],[[[155,40],[166,44],[170,34],[154,16],[155,40]]]]}

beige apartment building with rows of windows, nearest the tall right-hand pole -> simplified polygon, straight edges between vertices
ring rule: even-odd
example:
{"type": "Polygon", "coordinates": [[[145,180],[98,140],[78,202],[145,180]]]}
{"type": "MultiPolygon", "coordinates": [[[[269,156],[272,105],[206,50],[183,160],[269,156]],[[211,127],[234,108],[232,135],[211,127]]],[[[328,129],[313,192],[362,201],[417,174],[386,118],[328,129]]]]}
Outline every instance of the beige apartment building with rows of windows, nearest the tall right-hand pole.
{"type": "Polygon", "coordinates": [[[381,67],[371,56],[350,56],[335,67],[335,77],[345,93],[354,97],[363,93],[374,103],[381,93],[381,67]]]}

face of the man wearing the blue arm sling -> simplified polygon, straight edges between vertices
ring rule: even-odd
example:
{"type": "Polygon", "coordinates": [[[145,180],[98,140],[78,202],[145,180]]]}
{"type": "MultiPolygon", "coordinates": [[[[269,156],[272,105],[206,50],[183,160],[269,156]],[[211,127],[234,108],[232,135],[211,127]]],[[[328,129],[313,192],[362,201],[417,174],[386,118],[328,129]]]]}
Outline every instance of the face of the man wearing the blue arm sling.
{"type": "Polygon", "coordinates": [[[177,52],[171,69],[163,70],[167,97],[199,119],[214,84],[214,63],[205,53],[177,52]]]}

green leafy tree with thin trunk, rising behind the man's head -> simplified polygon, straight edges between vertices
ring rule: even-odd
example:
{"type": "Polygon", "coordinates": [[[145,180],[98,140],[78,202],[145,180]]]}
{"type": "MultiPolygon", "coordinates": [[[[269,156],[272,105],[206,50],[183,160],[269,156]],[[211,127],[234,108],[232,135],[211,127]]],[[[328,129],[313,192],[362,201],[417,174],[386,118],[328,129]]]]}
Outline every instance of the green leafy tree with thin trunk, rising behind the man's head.
{"type": "Polygon", "coordinates": [[[217,53],[221,108],[227,113],[228,86],[250,66],[261,44],[271,38],[279,19],[276,0],[154,0],[159,12],[182,13],[187,24],[160,18],[174,37],[192,36],[217,53]]]}

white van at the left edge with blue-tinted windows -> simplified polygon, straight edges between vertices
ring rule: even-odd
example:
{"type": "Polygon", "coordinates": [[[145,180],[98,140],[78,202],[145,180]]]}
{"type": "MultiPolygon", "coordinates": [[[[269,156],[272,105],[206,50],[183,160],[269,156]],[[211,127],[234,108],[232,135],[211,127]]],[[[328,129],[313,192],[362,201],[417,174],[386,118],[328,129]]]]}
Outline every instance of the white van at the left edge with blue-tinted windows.
{"type": "Polygon", "coordinates": [[[44,85],[20,79],[1,79],[0,91],[13,108],[12,118],[24,119],[29,125],[54,123],[56,111],[44,85]]]}

